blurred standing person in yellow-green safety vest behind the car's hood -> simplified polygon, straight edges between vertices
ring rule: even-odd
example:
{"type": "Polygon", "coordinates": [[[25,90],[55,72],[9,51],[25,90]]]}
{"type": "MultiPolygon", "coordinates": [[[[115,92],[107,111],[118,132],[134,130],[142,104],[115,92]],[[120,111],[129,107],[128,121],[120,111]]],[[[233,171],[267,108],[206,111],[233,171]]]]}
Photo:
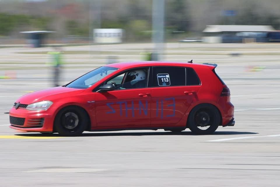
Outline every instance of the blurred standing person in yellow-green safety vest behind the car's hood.
{"type": "Polygon", "coordinates": [[[52,66],[53,66],[53,84],[54,86],[60,86],[59,79],[61,73],[62,62],[62,54],[61,49],[59,47],[55,47],[54,51],[48,52],[48,54],[52,55],[52,66]]]}

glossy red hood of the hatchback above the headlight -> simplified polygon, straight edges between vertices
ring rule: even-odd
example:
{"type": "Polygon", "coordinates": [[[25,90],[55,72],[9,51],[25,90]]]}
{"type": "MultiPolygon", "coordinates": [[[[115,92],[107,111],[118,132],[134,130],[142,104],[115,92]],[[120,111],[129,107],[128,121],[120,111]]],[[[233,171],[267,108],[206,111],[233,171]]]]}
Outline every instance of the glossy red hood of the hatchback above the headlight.
{"type": "Polygon", "coordinates": [[[16,103],[20,102],[22,104],[31,104],[39,101],[52,101],[54,99],[62,98],[65,96],[70,96],[73,94],[82,93],[85,89],[75,89],[75,88],[67,88],[67,87],[54,87],[48,88],[44,90],[34,91],[32,93],[27,93],[15,101],[16,103]]]}

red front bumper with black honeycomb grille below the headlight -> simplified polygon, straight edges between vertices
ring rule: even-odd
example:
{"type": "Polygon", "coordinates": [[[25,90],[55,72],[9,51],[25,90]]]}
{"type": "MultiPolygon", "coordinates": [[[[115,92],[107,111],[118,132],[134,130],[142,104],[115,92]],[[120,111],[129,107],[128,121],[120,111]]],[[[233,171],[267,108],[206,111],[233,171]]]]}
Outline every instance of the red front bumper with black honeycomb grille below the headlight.
{"type": "Polygon", "coordinates": [[[47,110],[10,110],[10,128],[28,132],[52,132],[53,115],[47,110]]]}

